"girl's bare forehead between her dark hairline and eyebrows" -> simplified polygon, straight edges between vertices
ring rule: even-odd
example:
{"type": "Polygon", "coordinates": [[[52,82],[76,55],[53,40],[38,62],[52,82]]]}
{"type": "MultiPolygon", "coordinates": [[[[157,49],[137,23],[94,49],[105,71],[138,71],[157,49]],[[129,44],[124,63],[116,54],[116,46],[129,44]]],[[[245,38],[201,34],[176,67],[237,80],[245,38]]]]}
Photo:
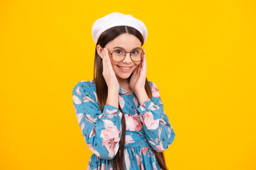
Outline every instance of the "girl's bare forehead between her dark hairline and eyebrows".
{"type": "Polygon", "coordinates": [[[142,42],[140,42],[139,38],[132,34],[123,33],[118,35],[114,40],[107,43],[107,47],[123,47],[125,50],[132,50],[136,47],[141,47],[142,42]]]}

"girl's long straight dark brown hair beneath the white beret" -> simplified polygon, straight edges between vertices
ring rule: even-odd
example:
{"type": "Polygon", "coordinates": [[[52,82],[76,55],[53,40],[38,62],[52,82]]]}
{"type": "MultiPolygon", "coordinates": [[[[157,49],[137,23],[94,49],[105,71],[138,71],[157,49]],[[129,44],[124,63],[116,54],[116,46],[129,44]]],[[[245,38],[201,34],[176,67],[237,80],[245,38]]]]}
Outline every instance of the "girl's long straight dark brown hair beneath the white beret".
{"type": "MultiPolygon", "coordinates": [[[[108,42],[111,40],[114,40],[118,35],[122,33],[129,33],[134,36],[136,36],[140,42],[142,42],[142,45],[144,44],[144,38],[141,33],[135,28],[129,27],[129,26],[115,26],[112,28],[109,28],[105,30],[99,37],[96,43],[95,48],[95,63],[94,63],[94,72],[93,72],[93,81],[95,82],[96,91],[97,91],[97,100],[100,106],[101,111],[103,111],[104,106],[107,102],[107,84],[106,81],[102,75],[103,72],[103,66],[102,66],[102,58],[97,54],[97,45],[100,45],[102,48],[107,45],[108,42]],[[96,77],[95,77],[96,74],[96,77]]],[[[130,77],[128,78],[129,81],[130,77]]],[[[145,90],[146,94],[149,96],[149,98],[152,99],[152,91],[151,86],[149,84],[149,81],[146,79],[145,83],[145,90]]],[[[119,111],[123,113],[122,108],[119,105],[119,111]]],[[[122,170],[125,169],[124,166],[124,142],[125,142],[125,132],[126,132],[126,123],[124,119],[124,114],[122,114],[122,136],[121,140],[119,141],[119,149],[117,154],[115,155],[114,159],[112,159],[112,166],[115,170],[122,170]]],[[[154,150],[153,150],[154,151],[154,150]]],[[[161,169],[166,170],[166,164],[164,160],[164,154],[163,152],[156,152],[154,151],[154,154],[156,155],[156,159],[159,162],[159,166],[161,169]]]]}

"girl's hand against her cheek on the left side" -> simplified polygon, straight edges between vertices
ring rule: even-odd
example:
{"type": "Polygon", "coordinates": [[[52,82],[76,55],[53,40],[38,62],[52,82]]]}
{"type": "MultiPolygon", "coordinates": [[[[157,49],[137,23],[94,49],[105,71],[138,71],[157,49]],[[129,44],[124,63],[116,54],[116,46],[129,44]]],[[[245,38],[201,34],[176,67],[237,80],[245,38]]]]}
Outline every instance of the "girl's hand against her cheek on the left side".
{"type": "Polygon", "coordinates": [[[102,65],[102,75],[107,83],[108,89],[111,91],[119,91],[119,83],[110,62],[109,52],[106,48],[103,49],[102,65]]]}

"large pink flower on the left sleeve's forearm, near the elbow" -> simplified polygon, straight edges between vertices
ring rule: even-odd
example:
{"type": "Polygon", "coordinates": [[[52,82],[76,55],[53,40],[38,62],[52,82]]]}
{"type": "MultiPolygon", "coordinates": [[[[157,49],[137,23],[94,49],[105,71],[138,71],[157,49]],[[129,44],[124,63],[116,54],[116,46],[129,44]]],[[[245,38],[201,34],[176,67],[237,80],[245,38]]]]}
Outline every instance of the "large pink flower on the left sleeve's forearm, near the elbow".
{"type": "Polygon", "coordinates": [[[103,138],[102,145],[105,145],[107,151],[109,152],[108,156],[113,157],[117,153],[119,145],[117,143],[120,140],[119,130],[112,123],[111,120],[102,120],[105,126],[105,130],[101,131],[100,137],[103,138]]]}

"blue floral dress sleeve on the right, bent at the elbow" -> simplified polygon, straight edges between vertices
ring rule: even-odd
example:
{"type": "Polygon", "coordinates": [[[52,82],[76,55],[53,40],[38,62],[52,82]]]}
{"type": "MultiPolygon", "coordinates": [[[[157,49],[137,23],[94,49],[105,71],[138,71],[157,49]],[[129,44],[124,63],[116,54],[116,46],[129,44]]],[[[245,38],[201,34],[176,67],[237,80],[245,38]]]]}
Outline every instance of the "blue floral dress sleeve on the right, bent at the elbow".
{"type": "Polygon", "coordinates": [[[152,100],[148,98],[138,106],[139,117],[145,131],[146,140],[156,152],[164,152],[174,140],[175,133],[169,118],[164,113],[164,105],[161,101],[159,89],[149,81],[152,90],[152,100]]]}

